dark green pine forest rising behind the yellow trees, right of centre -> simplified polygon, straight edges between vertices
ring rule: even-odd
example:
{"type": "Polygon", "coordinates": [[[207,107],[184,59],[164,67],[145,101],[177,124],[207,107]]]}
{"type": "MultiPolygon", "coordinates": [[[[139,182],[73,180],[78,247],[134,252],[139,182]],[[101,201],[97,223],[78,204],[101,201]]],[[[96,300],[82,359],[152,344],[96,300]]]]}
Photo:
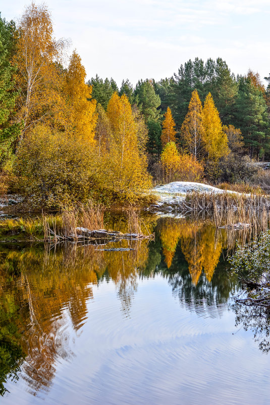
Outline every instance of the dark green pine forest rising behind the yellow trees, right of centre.
{"type": "Polygon", "coordinates": [[[191,59],[181,64],[177,73],[169,78],[139,80],[135,87],[129,79],[123,80],[121,87],[111,78],[102,79],[98,75],[88,80],[92,86],[92,96],[106,109],[114,92],[126,94],[130,103],[137,105],[149,129],[149,153],[160,153],[161,121],[169,107],[176,123],[176,138],[181,144],[181,126],[188,112],[192,92],[198,92],[203,102],[211,94],[224,125],[239,128],[244,142],[243,152],[250,158],[262,160],[270,158],[270,75],[264,77],[267,87],[257,72],[247,71],[246,75],[231,72],[222,58],[191,59]],[[153,122],[159,122],[159,131],[153,122]]]}

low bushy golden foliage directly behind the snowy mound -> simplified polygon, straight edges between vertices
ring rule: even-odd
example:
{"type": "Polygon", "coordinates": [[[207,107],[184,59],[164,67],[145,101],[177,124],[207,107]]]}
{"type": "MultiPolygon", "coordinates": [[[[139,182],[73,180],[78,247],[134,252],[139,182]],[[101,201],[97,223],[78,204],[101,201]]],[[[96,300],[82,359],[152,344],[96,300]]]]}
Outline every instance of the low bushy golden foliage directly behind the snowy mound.
{"type": "Polygon", "coordinates": [[[180,154],[174,142],[168,143],[161,153],[161,167],[166,182],[196,182],[203,173],[202,165],[194,156],[180,154]]]}

